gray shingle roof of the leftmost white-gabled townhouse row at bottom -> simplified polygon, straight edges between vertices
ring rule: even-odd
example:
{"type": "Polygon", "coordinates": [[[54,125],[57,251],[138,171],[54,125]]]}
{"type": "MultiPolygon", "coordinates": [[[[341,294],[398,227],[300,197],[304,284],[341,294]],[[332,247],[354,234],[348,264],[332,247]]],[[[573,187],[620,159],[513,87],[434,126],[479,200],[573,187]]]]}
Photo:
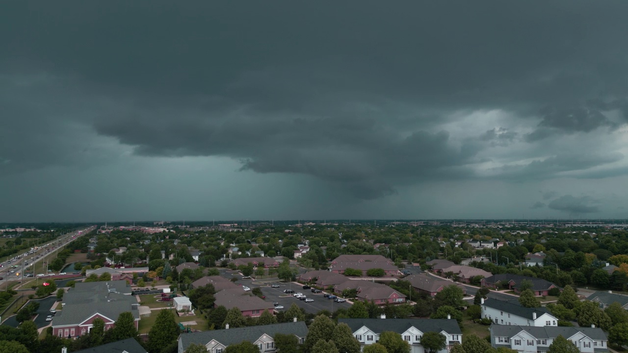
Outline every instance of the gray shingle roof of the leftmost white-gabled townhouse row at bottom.
{"type": "Polygon", "coordinates": [[[207,345],[212,340],[217,340],[217,342],[225,346],[239,344],[244,341],[252,343],[264,334],[271,337],[274,337],[275,334],[293,334],[296,335],[296,337],[303,338],[308,334],[308,327],[305,325],[305,322],[298,321],[274,323],[273,325],[239,327],[237,329],[192,332],[179,336],[179,346],[182,346],[183,350],[185,350],[190,344],[207,345]]]}

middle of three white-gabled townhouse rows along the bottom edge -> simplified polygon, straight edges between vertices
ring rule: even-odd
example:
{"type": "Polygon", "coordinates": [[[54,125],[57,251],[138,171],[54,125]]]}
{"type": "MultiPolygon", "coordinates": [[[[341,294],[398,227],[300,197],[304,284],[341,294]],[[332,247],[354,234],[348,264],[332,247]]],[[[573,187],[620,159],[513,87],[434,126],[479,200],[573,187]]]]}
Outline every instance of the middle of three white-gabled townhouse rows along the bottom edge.
{"type": "Polygon", "coordinates": [[[411,353],[427,353],[421,345],[421,337],[426,332],[438,332],[445,336],[447,347],[438,353],[446,353],[452,345],[462,344],[462,331],[454,319],[338,318],[338,323],[349,325],[362,347],[377,343],[379,335],[385,331],[401,335],[410,344],[411,353]]]}

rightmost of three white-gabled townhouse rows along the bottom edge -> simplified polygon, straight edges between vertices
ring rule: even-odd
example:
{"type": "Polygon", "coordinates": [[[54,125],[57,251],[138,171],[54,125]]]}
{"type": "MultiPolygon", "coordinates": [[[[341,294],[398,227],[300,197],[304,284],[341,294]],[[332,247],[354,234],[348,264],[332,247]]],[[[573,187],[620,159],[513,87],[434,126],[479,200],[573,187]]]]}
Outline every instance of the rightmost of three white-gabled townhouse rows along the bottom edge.
{"type": "Polygon", "coordinates": [[[570,340],[582,353],[609,352],[607,335],[598,327],[490,325],[489,330],[493,347],[521,353],[547,352],[558,335],[570,340]]]}

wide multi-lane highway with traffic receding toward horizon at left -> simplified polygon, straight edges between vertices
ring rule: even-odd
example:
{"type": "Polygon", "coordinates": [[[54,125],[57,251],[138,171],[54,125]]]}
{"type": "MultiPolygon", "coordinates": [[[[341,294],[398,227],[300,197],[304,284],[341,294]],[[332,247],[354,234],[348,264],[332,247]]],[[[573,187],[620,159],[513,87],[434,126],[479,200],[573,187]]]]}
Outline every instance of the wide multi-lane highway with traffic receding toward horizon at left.
{"type": "MultiPolygon", "coordinates": [[[[11,263],[8,261],[4,261],[2,263],[3,267],[0,268],[0,277],[3,280],[0,280],[0,290],[6,289],[6,286],[3,288],[3,285],[6,285],[8,281],[23,281],[24,280],[24,270],[30,268],[34,268],[35,264],[44,261],[45,259],[51,259],[59,249],[62,249],[64,246],[77,239],[77,237],[87,234],[95,229],[95,226],[82,229],[80,231],[75,231],[72,233],[64,234],[57,239],[48,242],[48,244],[40,246],[34,253],[28,254],[31,250],[26,249],[21,254],[16,254],[14,258],[17,259],[9,259],[11,263]],[[51,247],[55,247],[55,249],[51,249],[51,247]],[[46,254],[47,253],[47,254],[46,254]],[[40,258],[36,259],[36,256],[40,256],[40,258]],[[28,262],[28,265],[25,263],[28,262]],[[16,268],[12,268],[11,266],[17,266],[16,268]],[[14,271],[14,273],[11,273],[14,271]],[[19,275],[18,275],[19,274],[19,275]]],[[[35,276],[37,275],[34,273],[35,276]]],[[[28,278],[26,278],[28,280],[28,278]]]]}

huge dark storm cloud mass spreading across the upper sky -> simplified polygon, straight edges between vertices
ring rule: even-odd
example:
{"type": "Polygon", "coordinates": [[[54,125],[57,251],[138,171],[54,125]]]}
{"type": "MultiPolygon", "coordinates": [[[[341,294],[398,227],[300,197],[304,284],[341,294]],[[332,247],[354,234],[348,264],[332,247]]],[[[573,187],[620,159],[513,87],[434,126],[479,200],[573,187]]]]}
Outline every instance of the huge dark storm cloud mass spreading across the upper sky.
{"type": "MultiPolygon", "coordinates": [[[[38,109],[14,107],[8,119],[16,124],[28,121],[45,134],[45,121],[82,122],[137,155],[226,156],[244,170],[311,175],[364,198],[403,184],[474,178],[489,148],[507,151],[520,136],[534,144],[612,130],[620,122],[604,114],[627,107],[625,1],[24,1],[6,8],[4,70],[63,78],[38,92],[48,95],[38,109]],[[50,99],[68,92],[66,77],[75,99],[50,99]],[[458,112],[492,109],[536,129],[487,127],[478,138],[441,126],[458,112]]],[[[54,156],[72,163],[75,148],[63,131],[63,143],[46,151],[53,156],[28,168],[54,156]]],[[[41,147],[12,149],[0,161],[26,163],[41,147]]],[[[607,151],[547,154],[495,170],[540,180],[622,159],[607,151]]]]}

